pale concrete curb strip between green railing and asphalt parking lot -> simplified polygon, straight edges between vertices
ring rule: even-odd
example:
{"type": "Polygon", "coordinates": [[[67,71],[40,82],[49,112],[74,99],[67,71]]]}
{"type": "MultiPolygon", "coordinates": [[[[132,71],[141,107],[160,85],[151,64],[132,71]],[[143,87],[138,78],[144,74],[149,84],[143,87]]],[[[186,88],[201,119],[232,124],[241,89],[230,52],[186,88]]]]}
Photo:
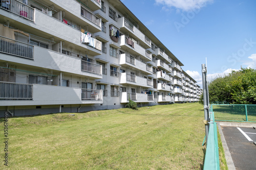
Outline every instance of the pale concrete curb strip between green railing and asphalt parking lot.
{"type": "Polygon", "coordinates": [[[217,122],[217,125],[218,125],[218,129],[219,129],[219,133],[221,135],[222,146],[223,146],[223,149],[224,149],[224,152],[225,152],[225,158],[226,158],[226,161],[227,161],[228,169],[229,170],[236,170],[236,167],[234,166],[234,162],[232,160],[231,154],[230,154],[229,149],[227,147],[227,142],[226,142],[226,139],[223,135],[220,122],[217,122]]]}

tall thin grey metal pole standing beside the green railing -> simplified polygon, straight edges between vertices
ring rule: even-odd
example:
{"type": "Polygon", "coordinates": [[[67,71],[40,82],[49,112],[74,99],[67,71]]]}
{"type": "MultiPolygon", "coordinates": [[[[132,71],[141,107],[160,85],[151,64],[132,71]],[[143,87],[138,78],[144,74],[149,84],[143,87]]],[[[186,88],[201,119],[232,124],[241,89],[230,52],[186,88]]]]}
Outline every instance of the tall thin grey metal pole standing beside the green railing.
{"type": "Polygon", "coordinates": [[[209,133],[209,97],[208,97],[208,82],[207,82],[207,69],[205,64],[202,64],[202,79],[203,79],[203,98],[204,98],[204,124],[205,124],[205,136],[206,144],[208,140],[209,133]]]}

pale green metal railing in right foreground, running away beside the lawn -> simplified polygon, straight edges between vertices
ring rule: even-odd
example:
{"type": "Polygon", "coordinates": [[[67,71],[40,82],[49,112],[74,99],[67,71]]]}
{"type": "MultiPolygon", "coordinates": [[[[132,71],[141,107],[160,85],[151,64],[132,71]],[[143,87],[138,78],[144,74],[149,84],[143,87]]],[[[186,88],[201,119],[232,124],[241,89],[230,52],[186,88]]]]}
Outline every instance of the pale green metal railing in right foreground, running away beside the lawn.
{"type": "Polygon", "coordinates": [[[209,132],[204,159],[204,169],[220,169],[217,124],[215,113],[210,112],[209,132]]]}

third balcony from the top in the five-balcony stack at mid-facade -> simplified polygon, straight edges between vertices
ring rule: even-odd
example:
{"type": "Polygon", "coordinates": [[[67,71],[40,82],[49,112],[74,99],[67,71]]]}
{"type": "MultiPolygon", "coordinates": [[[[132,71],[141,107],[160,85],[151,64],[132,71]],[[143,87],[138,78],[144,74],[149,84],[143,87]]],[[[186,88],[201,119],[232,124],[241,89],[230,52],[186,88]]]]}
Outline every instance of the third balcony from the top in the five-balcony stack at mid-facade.
{"type": "Polygon", "coordinates": [[[119,64],[126,67],[133,67],[139,69],[146,74],[152,74],[152,66],[146,65],[145,63],[135,59],[135,57],[128,54],[121,54],[119,64]]]}

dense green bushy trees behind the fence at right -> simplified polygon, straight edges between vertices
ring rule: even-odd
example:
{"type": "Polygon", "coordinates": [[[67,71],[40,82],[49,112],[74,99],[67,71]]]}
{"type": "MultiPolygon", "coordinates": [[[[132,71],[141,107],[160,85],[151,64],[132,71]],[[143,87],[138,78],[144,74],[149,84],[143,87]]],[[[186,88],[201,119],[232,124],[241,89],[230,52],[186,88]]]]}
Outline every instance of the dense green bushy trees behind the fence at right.
{"type": "MultiPolygon", "coordinates": [[[[227,102],[232,104],[256,104],[256,70],[241,68],[225,77],[211,81],[209,102],[227,102]]],[[[200,98],[203,103],[203,97],[200,98]]]]}

